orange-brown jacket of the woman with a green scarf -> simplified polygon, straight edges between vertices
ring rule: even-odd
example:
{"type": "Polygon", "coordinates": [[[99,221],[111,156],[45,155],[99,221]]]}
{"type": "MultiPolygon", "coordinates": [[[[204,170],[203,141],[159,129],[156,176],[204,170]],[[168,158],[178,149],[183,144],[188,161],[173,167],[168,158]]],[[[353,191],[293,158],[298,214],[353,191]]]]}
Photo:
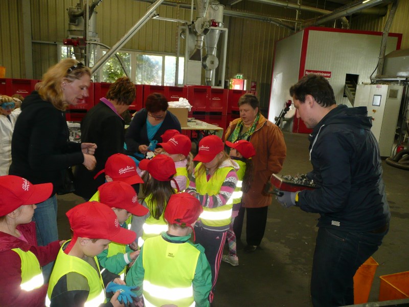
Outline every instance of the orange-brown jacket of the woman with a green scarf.
{"type": "MultiPolygon", "coordinates": [[[[240,118],[230,122],[224,140],[229,139],[239,121],[240,118]]],[[[256,149],[256,156],[253,157],[253,182],[256,180],[257,184],[251,182],[249,191],[243,193],[242,206],[246,208],[266,207],[271,204],[271,194],[263,193],[265,183],[268,182],[271,174],[281,171],[287,147],[280,128],[261,114],[256,130],[249,141],[256,149]]]]}

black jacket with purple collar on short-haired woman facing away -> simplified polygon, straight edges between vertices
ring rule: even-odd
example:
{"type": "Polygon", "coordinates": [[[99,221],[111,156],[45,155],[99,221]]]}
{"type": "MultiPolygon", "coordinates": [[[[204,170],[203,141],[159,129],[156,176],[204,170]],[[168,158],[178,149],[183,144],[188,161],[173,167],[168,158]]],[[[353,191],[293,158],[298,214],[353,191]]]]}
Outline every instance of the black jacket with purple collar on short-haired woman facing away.
{"type": "Polygon", "coordinates": [[[84,165],[75,169],[75,194],[90,199],[98,187],[105,183],[105,174],[94,176],[105,168],[106,160],[114,153],[124,150],[124,121],[104,102],[90,109],[81,122],[81,142],[96,143],[97,166],[89,171],[84,165]]]}

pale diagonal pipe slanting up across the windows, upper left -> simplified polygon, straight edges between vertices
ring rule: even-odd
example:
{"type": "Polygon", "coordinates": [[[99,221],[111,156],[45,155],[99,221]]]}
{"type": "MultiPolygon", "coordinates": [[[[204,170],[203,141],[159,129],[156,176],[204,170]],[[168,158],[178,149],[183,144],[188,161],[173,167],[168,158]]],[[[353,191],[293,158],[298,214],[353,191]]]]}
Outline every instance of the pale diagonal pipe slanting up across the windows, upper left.
{"type": "Polygon", "coordinates": [[[105,62],[112,56],[112,54],[117,53],[126,44],[126,42],[129,39],[131,39],[132,36],[146,24],[149,18],[155,14],[156,8],[160,6],[163,2],[164,0],[156,0],[156,2],[149,7],[145,15],[143,15],[142,18],[139,19],[138,22],[115,45],[113,45],[112,48],[109,49],[91,68],[92,75],[97,73],[105,64],[105,62]]]}

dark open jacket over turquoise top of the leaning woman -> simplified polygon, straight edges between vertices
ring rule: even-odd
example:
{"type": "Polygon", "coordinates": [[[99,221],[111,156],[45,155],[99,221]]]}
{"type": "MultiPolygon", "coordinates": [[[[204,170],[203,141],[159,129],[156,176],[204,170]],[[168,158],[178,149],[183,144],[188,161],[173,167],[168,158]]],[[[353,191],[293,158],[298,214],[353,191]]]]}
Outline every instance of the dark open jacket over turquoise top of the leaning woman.
{"type": "MultiPolygon", "coordinates": [[[[139,152],[140,145],[149,146],[148,131],[146,128],[146,118],[148,116],[148,111],[146,108],[140,109],[140,111],[133,117],[129,128],[126,130],[125,142],[127,146],[127,153],[132,154],[134,152],[139,152]]],[[[165,133],[166,130],[175,129],[181,133],[179,120],[169,111],[166,112],[165,119],[162,122],[162,126],[157,130],[153,139],[158,143],[162,142],[161,135],[165,133]]]]}

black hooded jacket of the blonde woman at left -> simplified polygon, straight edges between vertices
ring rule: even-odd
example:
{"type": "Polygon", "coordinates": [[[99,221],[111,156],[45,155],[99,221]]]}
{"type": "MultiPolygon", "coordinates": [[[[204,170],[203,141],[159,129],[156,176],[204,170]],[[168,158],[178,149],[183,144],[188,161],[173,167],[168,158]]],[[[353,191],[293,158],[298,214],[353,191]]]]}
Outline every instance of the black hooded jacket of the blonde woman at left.
{"type": "Polygon", "coordinates": [[[84,162],[81,145],[69,141],[63,112],[43,101],[36,91],[24,99],[11,141],[9,174],[33,184],[51,182],[53,194],[69,166],[84,162]]]}

